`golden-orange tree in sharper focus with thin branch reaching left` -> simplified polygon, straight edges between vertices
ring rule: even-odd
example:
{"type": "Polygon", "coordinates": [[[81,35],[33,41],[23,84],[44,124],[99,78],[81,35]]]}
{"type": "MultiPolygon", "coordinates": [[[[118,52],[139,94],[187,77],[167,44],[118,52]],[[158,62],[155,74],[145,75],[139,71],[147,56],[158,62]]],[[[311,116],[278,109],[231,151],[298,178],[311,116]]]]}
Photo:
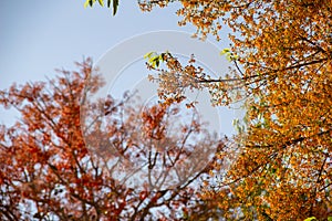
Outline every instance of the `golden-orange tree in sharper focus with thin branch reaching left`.
{"type": "Polygon", "coordinates": [[[234,69],[219,78],[190,61],[181,64],[172,52],[164,53],[166,67],[148,64],[164,101],[204,87],[212,105],[245,99],[241,155],[203,197],[229,219],[332,215],[332,2],[147,0],[139,6],[149,11],[170,2],[180,6],[179,24],[191,23],[201,39],[220,41],[225,25],[234,31],[224,51],[234,69]]]}

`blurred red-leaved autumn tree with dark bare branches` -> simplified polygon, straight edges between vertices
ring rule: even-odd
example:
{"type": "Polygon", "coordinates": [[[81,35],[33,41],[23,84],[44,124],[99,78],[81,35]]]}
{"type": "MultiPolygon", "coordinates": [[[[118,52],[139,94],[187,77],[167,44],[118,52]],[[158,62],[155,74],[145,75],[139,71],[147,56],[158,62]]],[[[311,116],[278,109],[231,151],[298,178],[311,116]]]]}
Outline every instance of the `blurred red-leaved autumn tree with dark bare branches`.
{"type": "Polygon", "coordinates": [[[204,215],[197,187],[211,164],[200,156],[225,141],[208,135],[198,115],[172,133],[181,115],[176,105],[143,107],[132,95],[89,102],[104,82],[91,60],[76,65],[0,92],[0,104],[20,113],[0,127],[1,220],[204,215]],[[127,181],[135,177],[143,181],[127,181]]]}

